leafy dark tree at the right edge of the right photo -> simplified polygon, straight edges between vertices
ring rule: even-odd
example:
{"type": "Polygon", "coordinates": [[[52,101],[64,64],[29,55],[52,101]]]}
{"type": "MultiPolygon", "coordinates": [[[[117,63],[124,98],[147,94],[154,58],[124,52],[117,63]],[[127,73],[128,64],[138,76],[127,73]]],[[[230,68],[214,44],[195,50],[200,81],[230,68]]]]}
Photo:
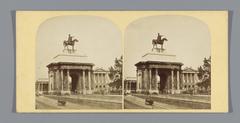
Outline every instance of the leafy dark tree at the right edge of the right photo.
{"type": "Polygon", "coordinates": [[[198,77],[201,80],[197,85],[211,89],[211,56],[204,58],[203,65],[198,68],[198,77]]]}

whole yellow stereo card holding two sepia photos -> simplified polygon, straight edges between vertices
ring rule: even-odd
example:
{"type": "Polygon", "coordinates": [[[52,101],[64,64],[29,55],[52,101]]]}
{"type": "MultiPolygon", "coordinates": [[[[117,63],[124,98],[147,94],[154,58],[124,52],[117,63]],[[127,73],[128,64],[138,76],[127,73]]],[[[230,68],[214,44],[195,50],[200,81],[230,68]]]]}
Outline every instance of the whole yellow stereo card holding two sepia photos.
{"type": "Polygon", "coordinates": [[[227,29],[227,11],[17,11],[17,112],[227,112],[227,29]]]}

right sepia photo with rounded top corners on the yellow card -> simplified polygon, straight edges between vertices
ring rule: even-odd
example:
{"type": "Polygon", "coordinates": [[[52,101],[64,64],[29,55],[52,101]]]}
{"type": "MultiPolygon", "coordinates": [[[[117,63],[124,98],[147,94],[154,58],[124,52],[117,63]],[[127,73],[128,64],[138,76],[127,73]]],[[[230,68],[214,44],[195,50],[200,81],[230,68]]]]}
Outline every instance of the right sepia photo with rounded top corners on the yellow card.
{"type": "Polygon", "coordinates": [[[124,109],[211,109],[211,34],[203,21],[156,15],[124,37],[124,109]]]}

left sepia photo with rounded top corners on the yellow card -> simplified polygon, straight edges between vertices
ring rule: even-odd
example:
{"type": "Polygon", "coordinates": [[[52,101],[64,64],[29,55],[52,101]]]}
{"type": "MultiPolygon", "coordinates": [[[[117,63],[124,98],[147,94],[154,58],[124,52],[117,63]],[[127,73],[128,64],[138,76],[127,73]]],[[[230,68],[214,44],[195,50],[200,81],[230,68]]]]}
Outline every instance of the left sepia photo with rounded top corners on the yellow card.
{"type": "Polygon", "coordinates": [[[56,16],[39,24],[34,36],[35,110],[122,109],[122,37],[114,23],[56,16]]]}

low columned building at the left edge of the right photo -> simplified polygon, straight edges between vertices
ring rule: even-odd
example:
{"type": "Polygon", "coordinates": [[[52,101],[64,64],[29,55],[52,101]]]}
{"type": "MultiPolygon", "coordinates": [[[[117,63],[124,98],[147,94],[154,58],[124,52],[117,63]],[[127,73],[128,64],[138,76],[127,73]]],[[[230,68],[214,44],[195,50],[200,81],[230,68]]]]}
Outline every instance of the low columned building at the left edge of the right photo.
{"type": "Polygon", "coordinates": [[[136,92],[136,89],[137,89],[137,78],[136,77],[126,77],[124,80],[125,93],[136,92]]]}

